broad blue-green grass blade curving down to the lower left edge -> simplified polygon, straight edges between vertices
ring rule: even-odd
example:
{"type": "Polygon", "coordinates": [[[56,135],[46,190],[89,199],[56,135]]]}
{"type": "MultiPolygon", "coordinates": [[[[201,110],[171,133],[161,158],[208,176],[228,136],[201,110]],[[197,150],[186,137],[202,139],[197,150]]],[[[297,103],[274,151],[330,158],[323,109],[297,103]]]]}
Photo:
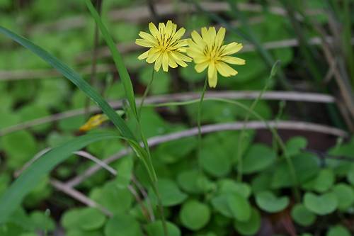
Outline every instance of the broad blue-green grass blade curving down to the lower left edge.
{"type": "Polygon", "coordinates": [[[37,161],[35,161],[21,176],[14,181],[0,199],[0,223],[5,223],[8,216],[13,213],[21,204],[22,199],[29,193],[38,182],[60,164],[72,155],[72,152],[80,150],[91,142],[98,140],[118,138],[113,133],[95,133],[76,137],[74,140],[65,143],[62,146],[55,147],[50,152],[46,152],[37,161]]]}

